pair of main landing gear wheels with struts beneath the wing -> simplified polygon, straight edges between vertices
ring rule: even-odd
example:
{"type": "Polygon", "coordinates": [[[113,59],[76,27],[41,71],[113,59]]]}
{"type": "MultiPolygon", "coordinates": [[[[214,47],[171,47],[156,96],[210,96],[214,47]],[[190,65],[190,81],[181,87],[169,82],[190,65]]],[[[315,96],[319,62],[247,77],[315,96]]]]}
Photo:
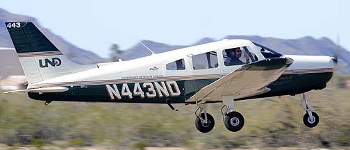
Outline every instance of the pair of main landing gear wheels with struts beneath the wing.
{"type": "MultiPolygon", "coordinates": [[[[233,97],[223,97],[224,107],[222,107],[222,115],[224,124],[228,131],[237,132],[244,126],[244,117],[240,113],[233,110],[233,97]],[[226,108],[226,110],[224,110],[226,108]]],[[[210,132],[215,125],[215,120],[212,115],[207,113],[206,104],[199,104],[194,113],[197,118],[195,121],[196,128],[202,133],[210,132]]]]}

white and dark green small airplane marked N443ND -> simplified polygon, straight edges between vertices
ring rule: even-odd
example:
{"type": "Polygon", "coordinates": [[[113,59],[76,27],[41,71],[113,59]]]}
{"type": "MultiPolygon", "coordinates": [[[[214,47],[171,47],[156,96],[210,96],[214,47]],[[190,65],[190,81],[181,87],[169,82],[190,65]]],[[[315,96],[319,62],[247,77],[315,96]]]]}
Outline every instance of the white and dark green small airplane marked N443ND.
{"type": "MultiPolygon", "coordinates": [[[[283,55],[249,40],[221,40],[153,53],[134,60],[79,65],[69,60],[32,22],[6,22],[28,81],[28,97],[45,101],[172,103],[197,105],[195,126],[208,133],[215,119],[209,103],[223,103],[228,131],[244,126],[234,102],[302,94],[303,123],[313,128],[319,116],[306,92],[322,90],[333,72],[347,64],[330,56],[283,55]],[[303,104],[305,103],[305,104],[303,104]]],[[[176,110],[177,111],[177,110],[176,110]]]]}

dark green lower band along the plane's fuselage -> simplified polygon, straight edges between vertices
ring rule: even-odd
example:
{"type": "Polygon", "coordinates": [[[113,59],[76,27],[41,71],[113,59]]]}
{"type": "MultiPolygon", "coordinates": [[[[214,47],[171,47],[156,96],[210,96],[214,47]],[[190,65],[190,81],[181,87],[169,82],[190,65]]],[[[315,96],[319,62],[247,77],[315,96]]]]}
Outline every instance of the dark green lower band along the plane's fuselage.
{"type": "MultiPolygon", "coordinates": [[[[317,73],[317,74],[290,74],[282,75],[277,81],[274,81],[268,88],[270,92],[260,94],[256,97],[249,97],[245,99],[262,98],[262,97],[274,97],[286,94],[299,94],[302,92],[308,92],[310,90],[322,89],[326,83],[333,76],[333,72],[317,73]]],[[[169,97],[171,103],[184,103],[185,99],[190,99],[192,95],[198,92],[204,86],[213,83],[216,79],[200,79],[200,80],[188,80],[188,81],[176,81],[178,88],[181,90],[179,97],[169,97]]],[[[140,83],[142,85],[142,83],[140,83]]],[[[133,90],[133,83],[129,83],[128,87],[133,90]]],[[[140,99],[134,97],[134,99],[127,99],[123,97],[120,100],[111,101],[108,97],[108,92],[105,85],[90,85],[85,87],[74,86],[73,88],[67,87],[69,90],[64,93],[44,93],[35,94],[29,93],[29,97],[37,100],[50,100],[50,101],[90,101],[90,102],[126,102],[126,103],[165,103],[166,98],[156,97],[149,99],[145,97],[140,99]]],[[[118,84],[117,88],[122,89],[122,84],[118,84]]],[[[147,92],[147,89],[142,89],[143,92],[147,92]]],[[[243,99],[237,99],[243,100],[243,99]]]]}

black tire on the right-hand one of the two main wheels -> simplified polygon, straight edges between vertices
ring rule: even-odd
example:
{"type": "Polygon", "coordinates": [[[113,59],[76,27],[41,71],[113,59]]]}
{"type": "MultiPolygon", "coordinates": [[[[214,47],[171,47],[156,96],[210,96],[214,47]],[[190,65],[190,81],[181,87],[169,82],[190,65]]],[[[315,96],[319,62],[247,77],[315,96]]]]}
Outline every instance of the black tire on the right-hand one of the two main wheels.
{"type": "Polygon", "coordinates": [[[229,131],[240,131],[244,126],[244,117],[238,112],[228,113],[224,120],[225,126],[229,131]]]}

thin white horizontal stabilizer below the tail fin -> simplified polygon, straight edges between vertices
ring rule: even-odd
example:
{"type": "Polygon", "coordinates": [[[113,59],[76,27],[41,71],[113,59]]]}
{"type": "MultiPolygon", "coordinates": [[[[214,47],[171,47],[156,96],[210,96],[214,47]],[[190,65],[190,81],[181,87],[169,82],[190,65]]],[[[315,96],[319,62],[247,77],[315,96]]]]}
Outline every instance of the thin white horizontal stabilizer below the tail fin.
{"type": "Polygon", "coordinates": [[[26,90],[13,90],[13,91],[8,91],[8,92],[3,92],[5,94],[8,93],[51,93],[51,92],[66,92],[69,90],[68,88],[65,87],[49,87],[49,88],[35,88],[35,89],[26,89],[26,90]]]}

